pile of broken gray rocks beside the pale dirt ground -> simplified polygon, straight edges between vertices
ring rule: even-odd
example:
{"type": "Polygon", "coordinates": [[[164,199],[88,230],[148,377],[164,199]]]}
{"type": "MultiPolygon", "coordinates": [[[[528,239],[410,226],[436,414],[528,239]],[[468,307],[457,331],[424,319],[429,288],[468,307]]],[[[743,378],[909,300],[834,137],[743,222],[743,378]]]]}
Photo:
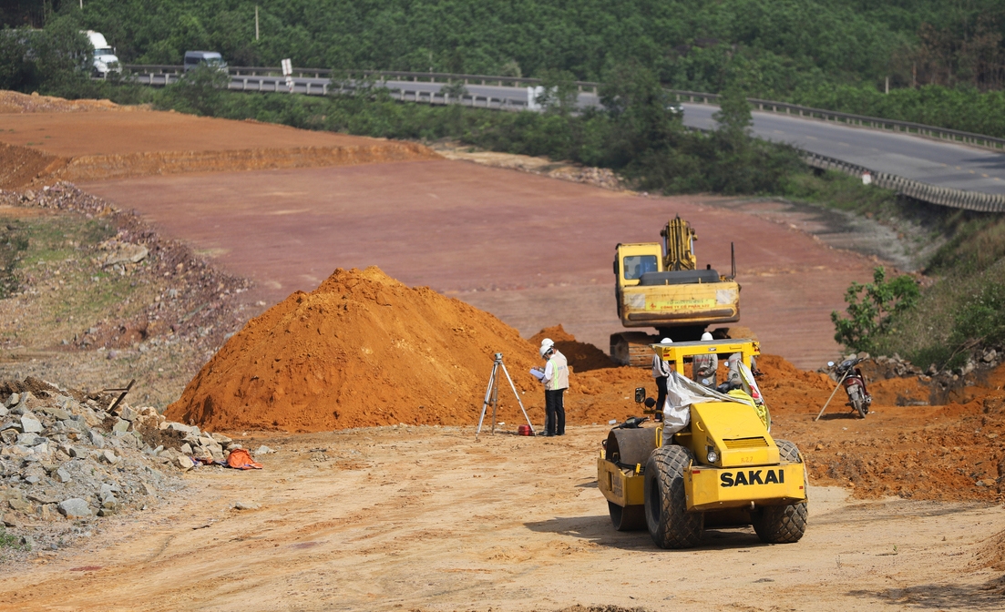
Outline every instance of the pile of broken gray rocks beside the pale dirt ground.
{"type": "Polygon", "coordinates": [[[240,447],[115,399],[31,377],[0,384],[0,513],[23,542],[46,523],[144,509],[184,486],[180,471],[240,447]]]}

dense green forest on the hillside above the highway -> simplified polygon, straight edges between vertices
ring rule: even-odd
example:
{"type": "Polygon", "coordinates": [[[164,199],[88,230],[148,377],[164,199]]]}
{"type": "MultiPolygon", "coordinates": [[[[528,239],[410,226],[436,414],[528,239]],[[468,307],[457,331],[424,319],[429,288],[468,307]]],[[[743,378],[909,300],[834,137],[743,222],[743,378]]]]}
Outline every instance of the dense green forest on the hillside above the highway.
{"type": "Polygon", "coordinates": [[[756,95],[822,83],[878,87],[1005,76],[1000,0],[14,0],[5,26],[79,13],[120,57],[180,63],[189,49],[234,65],[380,68],[482,74],[567,70],[597,80],[634,60],[665,85],[718,91],[742,68],[756,95]],[[259,36],[255,37],[255,7],[259,36]]]}

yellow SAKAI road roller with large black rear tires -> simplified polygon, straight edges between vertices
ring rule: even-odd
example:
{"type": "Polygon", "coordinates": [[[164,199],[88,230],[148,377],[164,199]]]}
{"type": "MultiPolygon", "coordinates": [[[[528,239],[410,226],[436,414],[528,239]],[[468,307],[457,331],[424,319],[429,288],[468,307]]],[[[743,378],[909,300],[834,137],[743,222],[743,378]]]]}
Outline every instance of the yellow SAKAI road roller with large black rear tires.
{"type": "Polygon", "coordinates": [[[771,436],[771,415],[751,370],[752,340],[651,345],[673,367],[663,406],[635,390],[648,417],[611,429],[597,459],[597,485],[618,531],[648,529],[656,546],[697,545],[706,528],[753,526],[762,542],[798,542],[806,531],[807,474],[799,449],[771,436]],[[725,357],[719,390],[686,376],[698,355],[725,357]]]}

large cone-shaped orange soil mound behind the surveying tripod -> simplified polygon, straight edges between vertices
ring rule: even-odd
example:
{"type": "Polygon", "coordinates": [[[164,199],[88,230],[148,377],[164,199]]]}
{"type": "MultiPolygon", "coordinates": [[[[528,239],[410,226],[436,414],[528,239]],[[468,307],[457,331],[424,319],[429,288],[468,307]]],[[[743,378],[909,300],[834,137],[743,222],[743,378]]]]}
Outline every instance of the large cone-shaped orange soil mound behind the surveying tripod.
{"type": "MultiPolygon", "coordinates": [[[[476,423],[496,352],[521,392],[540,390],[536,348],[491,315],[377,267],[337,269],[250,321],[166,414],[213,430],[476,423]]],[[[504,378],[499,420],[523,420],[512,395],[504,378]]]]}

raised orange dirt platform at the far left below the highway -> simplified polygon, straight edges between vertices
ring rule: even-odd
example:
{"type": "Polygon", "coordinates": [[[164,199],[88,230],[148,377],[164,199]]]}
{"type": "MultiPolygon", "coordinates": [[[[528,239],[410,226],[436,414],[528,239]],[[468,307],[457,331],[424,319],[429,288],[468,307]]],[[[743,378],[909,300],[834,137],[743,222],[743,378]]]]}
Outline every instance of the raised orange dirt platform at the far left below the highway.
{"type": "Polygon", "coordinates": [[[439,158],[415,143],[39,98],[48,112],[21,112],[10,103],[30,110],[34,97],[0,92],[0,188],[439,158]]]}

